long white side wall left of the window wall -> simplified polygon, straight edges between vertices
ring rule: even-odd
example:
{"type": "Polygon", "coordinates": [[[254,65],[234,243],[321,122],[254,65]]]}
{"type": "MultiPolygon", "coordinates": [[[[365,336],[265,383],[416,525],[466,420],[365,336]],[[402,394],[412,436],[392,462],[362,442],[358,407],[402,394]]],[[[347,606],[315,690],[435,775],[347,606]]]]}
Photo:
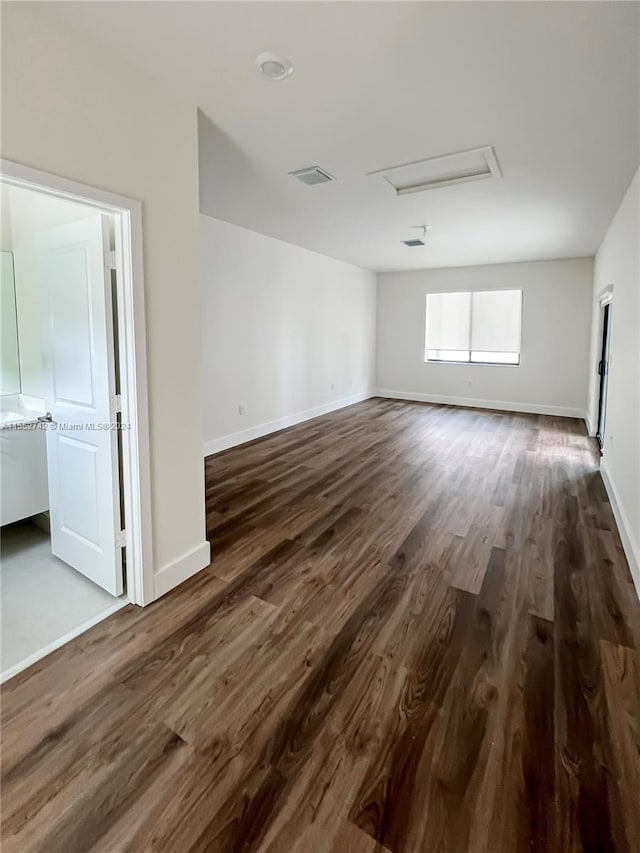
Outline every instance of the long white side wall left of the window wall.
{"type": "Polygon", "coordinates": [[[369,396],[375,274],[209,216],[200,227],[205,452],[369,396]]]}

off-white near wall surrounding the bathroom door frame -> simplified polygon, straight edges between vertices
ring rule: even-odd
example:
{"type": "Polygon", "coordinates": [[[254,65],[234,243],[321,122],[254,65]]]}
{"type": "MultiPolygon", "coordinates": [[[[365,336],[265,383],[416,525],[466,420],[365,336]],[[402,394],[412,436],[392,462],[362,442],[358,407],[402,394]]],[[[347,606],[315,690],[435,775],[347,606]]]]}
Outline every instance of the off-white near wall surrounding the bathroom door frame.
{"type": "Polygon", "coordinates": [[[154,569],[175,583],[206,552],[196,109],[55,5],[3,3],[2,156],[142,201],[154,569]]]}

